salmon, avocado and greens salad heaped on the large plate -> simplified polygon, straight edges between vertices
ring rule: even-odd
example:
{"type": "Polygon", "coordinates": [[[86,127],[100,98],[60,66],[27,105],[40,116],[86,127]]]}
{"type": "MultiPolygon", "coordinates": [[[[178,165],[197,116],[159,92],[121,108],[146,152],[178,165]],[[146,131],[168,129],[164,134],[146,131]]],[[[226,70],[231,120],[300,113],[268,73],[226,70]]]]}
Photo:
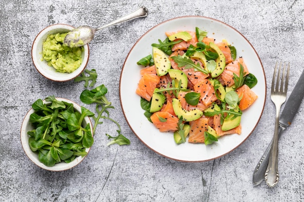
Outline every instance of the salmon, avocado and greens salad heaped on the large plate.
{"type": "Polygon", "coordinates": [[[215,39],[196,27],[166,32],[152,44],[152,54],[139,58],[135,93],[148,121],[172,133],[176,144],[212,144],[242,132],[242,112],[258,96],[257,79],[245,58],[226,39],[215,39]]]}

